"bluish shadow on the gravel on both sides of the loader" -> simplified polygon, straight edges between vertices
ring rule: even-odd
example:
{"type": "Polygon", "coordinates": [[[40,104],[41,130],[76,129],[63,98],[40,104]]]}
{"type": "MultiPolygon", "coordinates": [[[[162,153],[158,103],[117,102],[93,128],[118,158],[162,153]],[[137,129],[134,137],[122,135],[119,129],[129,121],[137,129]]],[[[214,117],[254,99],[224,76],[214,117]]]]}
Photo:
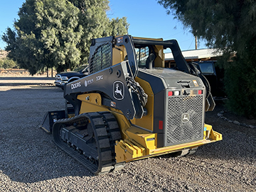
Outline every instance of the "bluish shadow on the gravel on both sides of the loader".
{"type": "MultiPolygon", "coordinates": [[[[29,80],[31,77],[26,78],[29,80]]],[[[63,107],[63,91],[58,88],[47,89],[46,86],[41,86],[36,89],[2,91],[0,174],[5,174],[12,181],[23,183],[65,176],[93,176],[75,159],[56,147],[52,135],[38,128],[44,113],[62,110],[63,107]]],[[[233,128],[234,125],[218,118],[216,113],[219,108],[216,110],[206,113],[206,123],[213,125],[214,130],[223,134],[223,141],[200,147],[193,155],[194,162],[200,162],[202,159],[210,162],[221,159],[225,159],[225,162],[255,161],[255,135],[249,136],[250,130],[237,131],[233,128]]],[[[164,157],[169,158],[168,155],[164,157]]],[[[159,158],[159,162],[161,161],[159,158]]]]}

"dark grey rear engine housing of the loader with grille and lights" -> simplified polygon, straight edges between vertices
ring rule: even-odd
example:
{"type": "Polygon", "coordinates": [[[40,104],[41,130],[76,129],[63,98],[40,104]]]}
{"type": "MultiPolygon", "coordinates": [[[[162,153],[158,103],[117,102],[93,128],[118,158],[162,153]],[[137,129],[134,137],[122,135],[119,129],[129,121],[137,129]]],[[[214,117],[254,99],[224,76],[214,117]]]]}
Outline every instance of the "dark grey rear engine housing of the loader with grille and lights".
{"type": "Polygon", "coordinates": [[[206,89],[200,78],[173,69],[140,69],[154,93],[157,147],[203,140],[206,89]]]}

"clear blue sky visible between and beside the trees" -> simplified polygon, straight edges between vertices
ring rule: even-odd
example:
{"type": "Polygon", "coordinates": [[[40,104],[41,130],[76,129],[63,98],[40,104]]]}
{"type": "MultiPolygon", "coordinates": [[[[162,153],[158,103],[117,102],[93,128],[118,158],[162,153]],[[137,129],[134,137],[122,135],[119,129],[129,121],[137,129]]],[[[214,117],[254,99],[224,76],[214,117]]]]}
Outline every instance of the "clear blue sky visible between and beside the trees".
{"type": "MultiPolygon", "coordinates": [[[[0,6],[0,35],[6,28],[13,28],[14,20],[18,19],[18,9],[26,0],[9,0],[0,6]]],[[[145,38],[164,38],[164,40],[176,39],[181,50],[195,49],[195,40],[189,29],[183,28],[180,21],[174,16],[167,15],[166,9],[156,0],[109,0],[110,18],[127,17],[129,23],[129,35],[145,38]]],[[[0,40],[0,47],[4,49],[6,44],[0,40]]],[[[206,48],[201,41],[198,48],[206,48]]]]}

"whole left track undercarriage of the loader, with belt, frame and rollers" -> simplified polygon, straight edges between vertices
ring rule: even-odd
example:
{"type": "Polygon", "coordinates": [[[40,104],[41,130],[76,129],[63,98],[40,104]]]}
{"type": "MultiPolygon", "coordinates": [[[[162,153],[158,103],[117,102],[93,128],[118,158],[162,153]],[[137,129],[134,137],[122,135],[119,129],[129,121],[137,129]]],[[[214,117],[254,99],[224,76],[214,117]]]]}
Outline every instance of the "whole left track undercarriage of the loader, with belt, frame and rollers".
{"type": "Polygon", "coordinates": [[[112,113],[82,113],[58,120],[53,125],[53,138],[58,147],[93,174],[105,174],[124,166],[115,162],[115,140],[122,137],[112,113]]]}

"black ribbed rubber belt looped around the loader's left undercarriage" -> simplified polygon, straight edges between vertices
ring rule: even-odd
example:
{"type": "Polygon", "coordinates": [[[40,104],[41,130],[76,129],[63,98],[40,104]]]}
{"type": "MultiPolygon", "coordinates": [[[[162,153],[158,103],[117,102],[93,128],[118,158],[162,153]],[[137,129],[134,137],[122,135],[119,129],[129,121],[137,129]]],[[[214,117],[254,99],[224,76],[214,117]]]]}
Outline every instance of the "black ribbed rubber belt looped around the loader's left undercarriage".
{"type": "Polygon", "coordinates": [[[122,169],[123,163],[116,164],[114,145],[115,140],[121,140],[122,136],[117,124],[117,120],[110,112],[95,112],[95,113],[82,113],[73,118],[61,119],[53,125],[53,139],[55,144],[68,153],[71,157],[75,158],[83,166],[89,169],[92,174],[106,174],[114,170],[122,169]],[[83,154],[79,154],[72,147],[68,147],[60,137],[60,129],[70,125],[80,125],[90,123],[93,127],[95,140],[97,143],[98,165],[92,164],[89,159],[86,159],[83,154]]]}

